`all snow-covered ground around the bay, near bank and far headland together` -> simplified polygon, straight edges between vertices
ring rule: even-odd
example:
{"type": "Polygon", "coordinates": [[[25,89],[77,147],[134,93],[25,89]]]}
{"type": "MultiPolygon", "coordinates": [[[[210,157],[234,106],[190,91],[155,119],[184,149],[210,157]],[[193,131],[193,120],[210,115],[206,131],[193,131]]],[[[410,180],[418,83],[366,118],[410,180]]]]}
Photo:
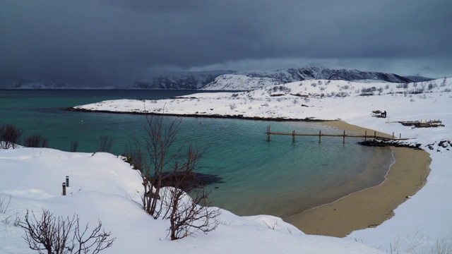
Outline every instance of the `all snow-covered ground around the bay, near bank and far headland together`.
{"type": "MultiPolygon", "coordinates": [[[[432,157],[426,186],[400,205],[391,219],[345,238],[307,236],[275,217],[237,217],[223,211],[215,231],[169,241],[169,222],[150,218],[133,202],[139,199],[141,183],[129,164],[105,153],[36,148],[0,150],[0,198],[7,202],[12,197],[0,221],[13,221],[16,214],[23,218],[26,209],[40,212],[42,207],[55,215],[76,212],[82,224],[94,225],[99,218],[117,237],[105,253],[431,253],[437,246],[452,248],[451,89],[452,78],[408,85],[304,80],[263,84],[249,92],[201,93],[159,101],[124,99],[76,107],[266,119],[341,119],[383,133],[400,133],[410,138],[408,143],[422,144],[432,157]],[[386,110],[388,117],[374,117],[374,110],[386,110]],[[412,128],[398,123],[438,119],[444,126],[412,128]],[[65,176],[70,176],[71,187],[69,194],[62,196],[65,176]],[[275,225],[275,229],[268,225],[275,225]]],[[[22,236],[23,230],[12,223],[0,224],[0,253],[33,253],[22,236]]]]}

